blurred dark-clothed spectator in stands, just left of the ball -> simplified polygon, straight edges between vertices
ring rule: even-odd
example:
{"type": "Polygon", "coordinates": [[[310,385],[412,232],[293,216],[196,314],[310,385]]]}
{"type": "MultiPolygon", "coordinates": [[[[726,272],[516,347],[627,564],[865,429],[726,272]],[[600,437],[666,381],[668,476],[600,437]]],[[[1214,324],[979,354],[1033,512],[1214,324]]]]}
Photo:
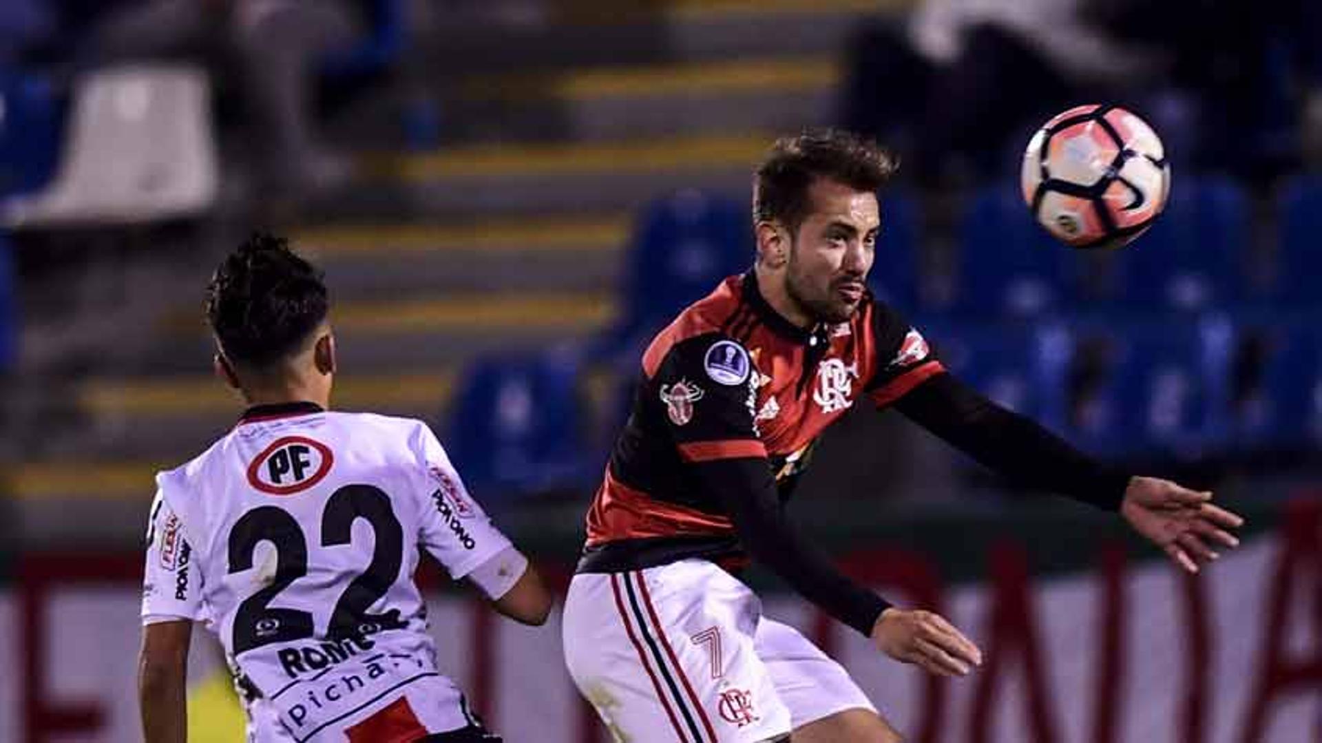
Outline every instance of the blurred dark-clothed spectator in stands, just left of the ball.
{"type": "Polygon", "coordinates": [[[995,171],[1025,122],[1101,102],[1158,66],[1091,24],[1083,1],[925,0],[902,26],[866,29],[845,123],[894,141],[920,178],[995,171]]]}

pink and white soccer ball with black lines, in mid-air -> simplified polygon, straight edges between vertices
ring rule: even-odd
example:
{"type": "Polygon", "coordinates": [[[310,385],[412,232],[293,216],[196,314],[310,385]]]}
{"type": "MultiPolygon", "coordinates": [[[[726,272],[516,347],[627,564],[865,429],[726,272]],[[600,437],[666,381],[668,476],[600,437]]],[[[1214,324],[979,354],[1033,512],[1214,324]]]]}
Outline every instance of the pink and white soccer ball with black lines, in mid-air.
{"type": "Polygon", "coordinates": [[[1079,106],[1029,141],[1023,200],[1048,233],[1072,247],[1120,247],[1166,208],[1170,165],[1157,132],[1114,106],[1079,106]]]}

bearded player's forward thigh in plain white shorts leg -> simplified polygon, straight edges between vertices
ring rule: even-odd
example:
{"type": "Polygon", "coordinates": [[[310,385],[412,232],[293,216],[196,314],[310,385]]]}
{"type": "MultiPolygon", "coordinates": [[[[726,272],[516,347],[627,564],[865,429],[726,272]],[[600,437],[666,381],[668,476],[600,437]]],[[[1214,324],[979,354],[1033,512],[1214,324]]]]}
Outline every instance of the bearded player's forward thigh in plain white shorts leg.
{"type": "Polygon", "coordinates": [[[776,695],[789,709],[796,743],[899,740],[845,668],[797,629],[763,619],[755,645],[771,672],[776,695]]]}

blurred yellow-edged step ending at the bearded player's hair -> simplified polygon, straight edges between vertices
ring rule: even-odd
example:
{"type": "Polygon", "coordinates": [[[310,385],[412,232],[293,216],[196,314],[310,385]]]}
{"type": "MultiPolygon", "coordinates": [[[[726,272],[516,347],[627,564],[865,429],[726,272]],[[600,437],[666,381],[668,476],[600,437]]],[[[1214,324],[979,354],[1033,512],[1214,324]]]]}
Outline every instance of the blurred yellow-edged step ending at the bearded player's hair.
{"type": "Polygon", "coordinates": [[[481,144],[368,156],[354,193],[315,221],[490,218],[632,210],[668,190],[701,186],[747,198],[750,175],[776,136],[481,144]]]}

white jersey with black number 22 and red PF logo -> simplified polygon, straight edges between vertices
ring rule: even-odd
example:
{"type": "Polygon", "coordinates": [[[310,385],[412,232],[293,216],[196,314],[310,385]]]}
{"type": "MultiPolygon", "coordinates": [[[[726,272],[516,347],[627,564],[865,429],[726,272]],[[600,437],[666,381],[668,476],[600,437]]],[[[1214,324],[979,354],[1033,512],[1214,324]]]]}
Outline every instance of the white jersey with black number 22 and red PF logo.
{"type": "Polygon", "coordinates": [[[412,580],[419,546],[456,579],[513,574],[504,590],[524,558],[424,423],[311,403],[253,412],[157,475],[144,624],[218,635],[250,740],[348,740],[401,699],[428,732],[465,727],[412,580]]]}

